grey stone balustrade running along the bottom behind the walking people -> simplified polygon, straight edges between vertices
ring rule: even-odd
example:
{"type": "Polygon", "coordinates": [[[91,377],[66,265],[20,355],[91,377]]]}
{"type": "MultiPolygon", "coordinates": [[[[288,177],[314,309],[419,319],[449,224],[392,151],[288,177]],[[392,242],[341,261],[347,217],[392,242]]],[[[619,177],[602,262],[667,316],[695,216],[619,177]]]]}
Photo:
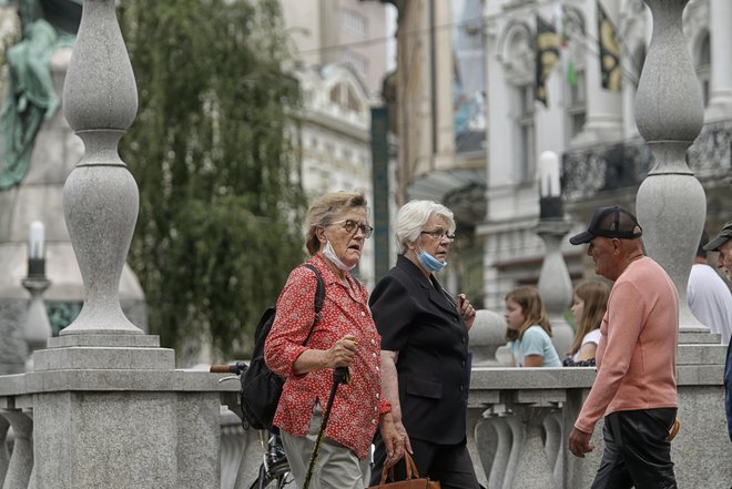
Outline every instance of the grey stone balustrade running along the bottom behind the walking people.
{"type": "MultiPolygon", "coordinates": [[[[672,452],[679,486],[728,488],[732,481],[729,463],[732,444],[726,437],[722,400],[724,347],[715,344],[716,335],[682,333],[681,336],[684,342],[679,347],[678,367],[681,431],[673,441],[672,452]]],[[[497,365],[485,358],[478,364],[497,365]]],[[[172,409],[164,405],[139,406],[157,410],[153,417],[155,422],[177,426],[173,429],[177,436],[161,438],[159,450],[170,454],[170,447],[164,445],[176,446],[172,451],[177,454],[181,477],[177,482],[161,487],[248,488],[256,478],[263,446],[257,431],[244,431],[238,418],[231,410],[222,409],[222,406],[237,408],[238,383],[220,383],[221,377],[187,370],[91,369],[0,377],[2,488],[50,487],[39,483],[40,479],[34,476],[37,470],[43,471],[43,466],[57,463],[49,459],[48,449],[34,449],[34,440],[49,439],[45,434],[34,432],[39,429],[39,425],[33,424],[38,396],[53,391],[75,396],[118,393],[121,398],[128,398],[133,396],[131,391],[139,390],[159,391],[167,400],[175,400],[172,409]],[[167,410],[166,415],[161,416],[161,410],[167,410]],[[211,470],[209,461],[216,458],[221,472],[211,470]],[[201,472],[196,467],[209,469],[201,472]],[[195,485],[180,486],[185,478],[194,480],[195,485]]],[[[489,489],[589,487],[600,462],[602,422],[592,438],[597,448],[586,459],[571,456],[565,440],[593,380],[593,368],[474,367],[467,439],[480,482],[489,489]]],[[[70,415],[90,416],[89,412],[70,415]]],[[[109,417],[110,435],[125,426],[124,410],[104,415],[109,417]]],[[[130,425],[129,429],[140,427],[130,425]]],[[[118,463],[131,468],[151,465],[135,460],[134,451],[125,447],[118,447],[114,456],[119,457],[118,463]]],[[[135,477],[140,480],[153,477],[155,470],[151,470],[150,473],[143,470],[135,477]]]]}

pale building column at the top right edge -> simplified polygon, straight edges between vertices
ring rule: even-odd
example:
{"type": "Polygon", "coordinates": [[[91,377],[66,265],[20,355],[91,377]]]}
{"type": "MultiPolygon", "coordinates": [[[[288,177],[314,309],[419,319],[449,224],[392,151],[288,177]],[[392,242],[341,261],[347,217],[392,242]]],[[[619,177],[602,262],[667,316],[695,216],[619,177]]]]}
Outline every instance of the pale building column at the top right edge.
{"type": "Polygon", "coordinates": [[[726,119],[732,109],[732,2],[710,0],[712,80],[706,120],[726,119]]]}

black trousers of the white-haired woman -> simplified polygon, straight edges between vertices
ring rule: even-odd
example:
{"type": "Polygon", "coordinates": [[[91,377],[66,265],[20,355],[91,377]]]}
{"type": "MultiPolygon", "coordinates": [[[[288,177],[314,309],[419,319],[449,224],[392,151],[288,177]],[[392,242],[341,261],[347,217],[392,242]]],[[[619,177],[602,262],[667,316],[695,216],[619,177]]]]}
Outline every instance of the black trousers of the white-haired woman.
{"type": "MultiPolygon", "coordinates": [[[[443,489],[479,489],[478,479],[468,454],[468,447],[458,445],[436,445],[429,441],[410,438],[411,458],[415,461],[419,477],[429,477],[437,480],[443,489]]],[[[376,450],[374,451],[374,468],[372,469],[370,486],[378,486],[384,470],[386,451],[384,441],[377,432],[374,439],[376,450]]],[[[407,478],[407,469],[404,460],[394,466],[394,478],[404,480],[407,478]]]]}

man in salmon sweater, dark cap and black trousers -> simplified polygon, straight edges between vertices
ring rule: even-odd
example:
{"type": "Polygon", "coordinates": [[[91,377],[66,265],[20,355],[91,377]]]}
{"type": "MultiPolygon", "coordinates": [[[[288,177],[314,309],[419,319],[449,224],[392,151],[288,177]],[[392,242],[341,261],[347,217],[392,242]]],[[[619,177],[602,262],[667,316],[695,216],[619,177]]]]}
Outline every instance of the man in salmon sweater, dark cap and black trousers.
{"type": "Polygon", "coordinates": [[[592,489],[675,489],[669,431],[674,425],[679,294],[643,255],[643,232],[630,212],[594,211],[588,230],[569,242],[589,243],[594,272],[614,281],[600,326],[598,375],[569,435],[577,457],[604,416],[604,452],[592,489]]]}

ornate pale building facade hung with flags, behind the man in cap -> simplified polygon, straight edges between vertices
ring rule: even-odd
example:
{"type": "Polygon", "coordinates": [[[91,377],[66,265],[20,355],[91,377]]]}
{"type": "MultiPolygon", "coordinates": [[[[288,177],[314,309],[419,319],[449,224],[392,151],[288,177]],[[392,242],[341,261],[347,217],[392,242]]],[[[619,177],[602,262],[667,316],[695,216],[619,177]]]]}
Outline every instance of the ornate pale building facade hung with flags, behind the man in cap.
{"type": "MultiPolygon", "coordinates": [[[[732,69],[728,51],[732,3],[692,0],[683,29],[704,100],[704,130],[688,153],[706,193],[711,232],[730,218],[732,69]]],[[[603,28],[607,26],[603,26],[603,28]]],[[[562,162],[562,197],[576,228],[600,205],[634,208],[638,187],[653,166],[636,128],[634,95],[652,32],[641,0],[489,1],[485,4],[488,73],[488,186],[485,300],[500,307],[507,291],[536,284],[543,244],[535,233],[539,215],[539,155],[562,162]],[[598,17],[604,11],[619,48],[619,90],[602,86],[598,17]],[[559,61],[547,80],[547,105],[535,101],[537,17],[557,28],[559,61]],[[563,42],[562,42],[563,41],[563,42]],[[562,45],[563,44],[563,45],[562,45]],[[568,67],[572,75],[568,74],[568,67]],[[573,80],[572,80],[573,78],[573,80]]],[[[583,249],[563,253],[573,279],[593,277],[583,249]]]]}

